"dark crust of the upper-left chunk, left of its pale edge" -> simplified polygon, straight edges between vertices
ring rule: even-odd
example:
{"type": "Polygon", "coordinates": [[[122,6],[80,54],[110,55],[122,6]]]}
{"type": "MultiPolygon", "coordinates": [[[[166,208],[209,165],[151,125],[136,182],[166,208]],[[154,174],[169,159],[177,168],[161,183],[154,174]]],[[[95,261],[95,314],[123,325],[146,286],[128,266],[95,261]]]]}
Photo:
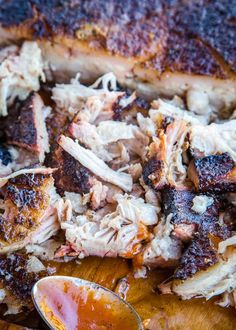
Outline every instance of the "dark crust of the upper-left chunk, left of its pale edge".
{"type": "Polygon", "coordinates": [[[35,97],[36,93],[31,93],[25,101],[15,102],[6,118],[5,133],[9,144],[39,152],[37,122],[33,110],[35,97]]]}

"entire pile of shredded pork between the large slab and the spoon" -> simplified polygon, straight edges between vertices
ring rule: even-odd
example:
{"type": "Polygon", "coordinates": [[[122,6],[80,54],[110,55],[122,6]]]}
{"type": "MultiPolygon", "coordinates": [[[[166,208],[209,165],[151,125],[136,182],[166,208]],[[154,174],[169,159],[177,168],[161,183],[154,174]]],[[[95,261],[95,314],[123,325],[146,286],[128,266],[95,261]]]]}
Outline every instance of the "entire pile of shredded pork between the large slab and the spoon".
{"type": "Polygon", "coordinates": [[[168,292],[233,305],[235,119],[194,90],[149,105],[113,73],[41,89],[46,67],[34,42],[0,51],[0,254],[30,255],[25,274],[36,257],[174,267],[168,292]]]}

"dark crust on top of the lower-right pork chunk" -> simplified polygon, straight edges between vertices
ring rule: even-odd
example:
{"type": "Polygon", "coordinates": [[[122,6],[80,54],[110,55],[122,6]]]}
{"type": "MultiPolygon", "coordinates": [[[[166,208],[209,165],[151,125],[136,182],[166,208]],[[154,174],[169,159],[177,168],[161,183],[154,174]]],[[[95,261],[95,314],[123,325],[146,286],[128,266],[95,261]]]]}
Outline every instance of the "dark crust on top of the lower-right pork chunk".
{"type": "Polygon", "coordinates": [[[174,278],[186,280],[218,261],[217,250],[206,236],[197,236],[181,257],[174,278]]]}

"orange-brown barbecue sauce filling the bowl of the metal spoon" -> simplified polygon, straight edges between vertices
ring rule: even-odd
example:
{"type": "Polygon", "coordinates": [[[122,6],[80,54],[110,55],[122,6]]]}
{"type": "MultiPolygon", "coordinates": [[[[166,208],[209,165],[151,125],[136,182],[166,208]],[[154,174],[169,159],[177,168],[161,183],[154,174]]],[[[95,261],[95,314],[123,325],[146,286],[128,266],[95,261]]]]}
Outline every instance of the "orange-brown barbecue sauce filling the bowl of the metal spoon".
{"type": "Polygon", "coordinates": [[[40,283],[38,304],[58,330],[138,330],[135,315],[109,291],[56,280],[40,283]]]}

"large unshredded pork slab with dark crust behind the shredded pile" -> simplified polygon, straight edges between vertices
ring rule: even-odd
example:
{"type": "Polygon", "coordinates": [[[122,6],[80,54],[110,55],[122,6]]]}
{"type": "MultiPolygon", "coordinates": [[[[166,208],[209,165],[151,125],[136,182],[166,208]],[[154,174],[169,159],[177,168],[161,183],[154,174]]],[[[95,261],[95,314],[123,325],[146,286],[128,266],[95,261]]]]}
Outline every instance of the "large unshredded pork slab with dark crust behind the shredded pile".
{"type": "Polygon", "coordinates": [[[10,0],[0,12],[1,42],[37,39],[57,79],[113,71],[148,97],[187,94],[198,113],[235,105],[232,1],[10,0]]]}

